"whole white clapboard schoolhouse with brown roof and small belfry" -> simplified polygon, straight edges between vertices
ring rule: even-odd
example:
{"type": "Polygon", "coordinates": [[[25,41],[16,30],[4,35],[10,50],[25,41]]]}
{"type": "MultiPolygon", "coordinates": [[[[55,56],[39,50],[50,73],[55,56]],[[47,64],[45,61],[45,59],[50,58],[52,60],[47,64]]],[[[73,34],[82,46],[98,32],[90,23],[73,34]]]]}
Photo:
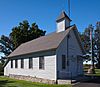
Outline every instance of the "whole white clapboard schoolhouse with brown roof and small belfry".
{"type": "Polygon", "coordinates": [[[84,50],[76,25],[62,12],[56,32],[21,44],[9,56],[4,75],[35,82],[56,83],[83,75],[84,50]]]}

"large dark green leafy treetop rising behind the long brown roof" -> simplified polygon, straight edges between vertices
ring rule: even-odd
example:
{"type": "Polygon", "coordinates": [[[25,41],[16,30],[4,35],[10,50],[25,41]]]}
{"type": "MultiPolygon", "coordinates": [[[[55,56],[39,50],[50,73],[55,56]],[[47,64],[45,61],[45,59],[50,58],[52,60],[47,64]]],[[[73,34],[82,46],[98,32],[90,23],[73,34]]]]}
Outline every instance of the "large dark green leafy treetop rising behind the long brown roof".
{"type": "Polygon", "coordinates": [[[19,26],[14,27],[10,33],[10,38],[14,44],[14,49],[22,43],[44,36],[46,31],[38,28],[36,23],[29,25],[27,20],[19,23],[19,26]]]}

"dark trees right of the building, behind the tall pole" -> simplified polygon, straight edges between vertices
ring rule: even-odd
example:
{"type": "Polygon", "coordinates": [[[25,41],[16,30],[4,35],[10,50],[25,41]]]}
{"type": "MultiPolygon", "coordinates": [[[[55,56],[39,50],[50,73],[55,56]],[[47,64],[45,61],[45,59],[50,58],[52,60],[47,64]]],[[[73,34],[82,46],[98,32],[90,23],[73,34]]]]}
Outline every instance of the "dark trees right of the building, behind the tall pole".
{"type": "MultiPolygon", "coordinates": [[[[89,25],[82,34],[80,34],[81,36],[81,40],[82,40],[82,44],[84,46],[84,49],[86,51],[86,55],[88,54],[89,56],[86,57],[87,58],[87,61],[88,60],[91,60],[90,58],[90,54],[91,54],[91,42],[90,42],[90,26],[92,25],[89,25]]],[[[92,55],[93,55],[93,62],[96,62],[97,65],[98,65],[98,68],[100,68],[100,22],[98,22],[96,24],[96,27],[93,27],[93,44],[92,44],[92,48],[93,48],[93,52],[92,52],[92,55]],[[95,28],[95,29],[94,29],[95,28]]]]}

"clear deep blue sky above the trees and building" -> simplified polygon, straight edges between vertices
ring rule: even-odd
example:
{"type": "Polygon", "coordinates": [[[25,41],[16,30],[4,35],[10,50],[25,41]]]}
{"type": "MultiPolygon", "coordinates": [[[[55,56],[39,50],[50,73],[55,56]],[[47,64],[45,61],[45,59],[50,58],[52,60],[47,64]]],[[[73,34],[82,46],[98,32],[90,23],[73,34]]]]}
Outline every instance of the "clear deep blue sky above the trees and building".
{"type": "MultiPolygon", "coordinates": [[[[23,20],[53,32],[62,10],[68,13],[67,0],[0,0],[0,36],[9,35],[12,27],[23,20]]],[[[100,21],[100,0],[71,0],[71,19],[80,32],[89,24],[95,25],[100,21]]]]}

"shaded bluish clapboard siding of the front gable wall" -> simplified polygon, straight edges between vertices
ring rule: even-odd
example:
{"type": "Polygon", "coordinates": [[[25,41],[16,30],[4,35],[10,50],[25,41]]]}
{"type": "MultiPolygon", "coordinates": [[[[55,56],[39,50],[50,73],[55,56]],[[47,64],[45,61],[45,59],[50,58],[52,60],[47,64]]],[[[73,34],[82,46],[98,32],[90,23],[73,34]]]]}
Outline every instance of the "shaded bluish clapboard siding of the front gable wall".
{"type": "Polygon", "coordinates": [[[83,59],[77,59],[77,55],[82,55],[79,43],[73,31],[69,33],[68,48],[67,48],[67,36],[62,41],[57,49],[57,72],[58,78],[67,78],[70,76],[77,76],[83,74],[83,59]],[[68,58],[67,58],[68,49],[68,58]],[[66,60],[69,61],[69,66],[66,69],[62,69],[62,55],[66,55],[66,60]]]}

